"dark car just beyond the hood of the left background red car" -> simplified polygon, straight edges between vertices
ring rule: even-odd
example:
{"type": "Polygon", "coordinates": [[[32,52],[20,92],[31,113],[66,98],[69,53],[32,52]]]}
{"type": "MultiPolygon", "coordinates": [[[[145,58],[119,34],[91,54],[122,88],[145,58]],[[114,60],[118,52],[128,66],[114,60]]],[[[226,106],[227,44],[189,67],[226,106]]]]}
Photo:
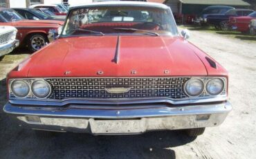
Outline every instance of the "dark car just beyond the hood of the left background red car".
{"type": "Polygon", "coordinates": [[[46,15],[44,12],[40,12],[39,10],[33,9],[33,8],[12,8],[16,12],[19,13],[22,17],[30,20],[58,20],[58,21],[64,21],[64,17],[53,17],[51,15],[46,15]]]}

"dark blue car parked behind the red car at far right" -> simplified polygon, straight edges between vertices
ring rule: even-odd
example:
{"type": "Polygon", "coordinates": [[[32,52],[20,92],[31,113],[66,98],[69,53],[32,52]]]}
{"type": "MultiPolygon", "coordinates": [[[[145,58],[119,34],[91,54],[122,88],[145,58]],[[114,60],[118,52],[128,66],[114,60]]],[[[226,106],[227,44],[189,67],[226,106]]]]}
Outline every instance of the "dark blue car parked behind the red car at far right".
{"type": "Polygon", "coordinates": [[[224,14],[208,15],[206,21],[208,24],[215,26],[215,28],[221,28],[221,30],[229,29],[229,18],[230,17],[241,17],[250,15],[254,10],[248,9],[232,9],[228,10],[224,14]]]}

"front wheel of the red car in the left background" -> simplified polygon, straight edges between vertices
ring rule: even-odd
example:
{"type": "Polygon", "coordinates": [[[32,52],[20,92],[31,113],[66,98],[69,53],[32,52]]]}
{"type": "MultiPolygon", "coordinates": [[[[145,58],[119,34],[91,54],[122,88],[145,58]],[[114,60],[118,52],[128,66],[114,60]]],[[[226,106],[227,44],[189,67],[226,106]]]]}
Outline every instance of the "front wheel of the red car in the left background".
{"type": "Polygon", "coordinates": [[[48,42],[48,38],[44,34],[36,33],[36,34],[30,35],[27,41],[28,49],[34,53],[35,51],[46,46],[47,42],[48,42]]]}

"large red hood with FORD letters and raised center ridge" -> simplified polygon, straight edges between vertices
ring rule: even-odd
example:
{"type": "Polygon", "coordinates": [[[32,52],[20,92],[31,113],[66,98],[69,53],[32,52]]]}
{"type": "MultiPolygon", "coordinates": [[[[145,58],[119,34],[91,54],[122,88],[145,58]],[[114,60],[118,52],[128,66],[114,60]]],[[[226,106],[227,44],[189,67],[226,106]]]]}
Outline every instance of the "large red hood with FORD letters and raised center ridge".
{"type": "Polygon", "coordinates": [[[22,70],[28,77],[208,75],[193,47],[180,37],[62,38],[32,55],[22,70]]]}

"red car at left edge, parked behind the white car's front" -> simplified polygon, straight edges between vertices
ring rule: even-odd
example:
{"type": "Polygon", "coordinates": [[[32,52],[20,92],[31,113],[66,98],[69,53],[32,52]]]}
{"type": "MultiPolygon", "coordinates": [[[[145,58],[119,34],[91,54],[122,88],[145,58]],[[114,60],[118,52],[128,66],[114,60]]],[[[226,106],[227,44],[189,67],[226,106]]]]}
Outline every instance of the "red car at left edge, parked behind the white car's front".
{"type": "Polygon", "coordinates": [[[12,9],[0,8],[0,26],[15,26],[17,28],[17,39],[20,46],[28,46],[29,50],[35,52],[48,41],[49,30],[58,30],[64,21],[51,20],[26,20],[12,9]]]}

